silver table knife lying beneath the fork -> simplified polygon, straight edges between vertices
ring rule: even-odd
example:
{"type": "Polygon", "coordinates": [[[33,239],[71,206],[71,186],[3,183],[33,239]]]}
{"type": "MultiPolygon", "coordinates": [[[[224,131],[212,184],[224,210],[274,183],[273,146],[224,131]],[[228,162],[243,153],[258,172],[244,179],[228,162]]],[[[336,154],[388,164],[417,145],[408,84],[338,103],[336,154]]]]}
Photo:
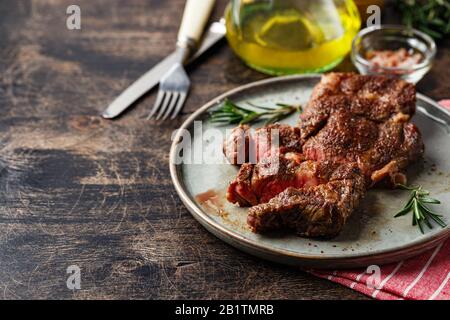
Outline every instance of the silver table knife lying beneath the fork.
{"type": "MultiPolygon", "coordinates": [[[[211,48],[226,33],[225,21],[222,18],[219,22],[214,22],[209,27],[203,42],[197,52],[189,59],[188,63],[194,61],[201,56],[206,50],[211,48]]],[[[164,60],[155,65],[152,69],[147,71],[132,85],[130,85],[124,92],[122,92],[102,113],[105,119],[112,119],[120,115],[136,100],[142,97],[150,89],[158,84],[160,78],[173,66],[177,61],[175,53],[170,54],[164,60]]]]}

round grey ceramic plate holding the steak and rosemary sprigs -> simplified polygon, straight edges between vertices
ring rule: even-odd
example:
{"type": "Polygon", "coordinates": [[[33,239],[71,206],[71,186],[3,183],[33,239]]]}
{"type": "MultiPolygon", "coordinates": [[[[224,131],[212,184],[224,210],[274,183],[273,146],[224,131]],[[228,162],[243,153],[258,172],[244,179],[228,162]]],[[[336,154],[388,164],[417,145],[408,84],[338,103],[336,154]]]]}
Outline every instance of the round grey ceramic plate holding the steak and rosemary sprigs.
{"type": "MultiPolygon", "coordinates": [[[[212,100],[189,117],[182,128],[193,133],[194,121],[202,122],[203,132],[211,127],[225,132],[229,127],[207,120],[207,111],[225,98],[238,104],[250,101],[273,106],[277,102],[305,105],[319,75],[272,78],[251,83],[212,100]]],[[[425,162],[410,168],[409,182],[421,184],[441,200],[435,207],[450,222],[450,113],[431,99],[418,94],[418,112],[413,122],[425,142],[425,162]]],[[[295,124],[298,114],[284,120],[295,124]]],[[[194,136],[194,135],[192,135],[194,136]]],[[[198,142],[201,137],[194,137],[198,142]]],[[[435,226],[421,234],[411,225],[411,215],[394,218],[408,197],[408,192],[370,190],[344,227],[332,240],[300,238],[294,234],[260,235],[246,223],[247,208],[239,208],[225,199],[228,183],[238,168],[227,164],[174,164],[177,156],[175,137],[171,149],[170,171],[181,200],[207,230],[229,244],[250,254],[276,262],[314,268],[348,268],[384,264],[405,259],[430,249],[450,236],[450,228],[435,226]],[[216,194],[211,202],[205,195],[216,194]],[[199,200],[198,195],[202,195],[199,200]]],[[[221,144],[221,141],[208,143],[221,144]]],[[[186,151],[186,150],[185,150],[186,151]]]]}

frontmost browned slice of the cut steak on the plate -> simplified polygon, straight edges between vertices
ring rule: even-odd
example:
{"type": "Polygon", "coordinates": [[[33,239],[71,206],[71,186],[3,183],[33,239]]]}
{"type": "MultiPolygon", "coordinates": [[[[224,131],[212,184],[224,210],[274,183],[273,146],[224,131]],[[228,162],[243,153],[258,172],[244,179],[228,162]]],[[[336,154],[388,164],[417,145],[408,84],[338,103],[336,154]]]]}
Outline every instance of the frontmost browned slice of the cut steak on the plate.
{"type": "Polygon", "coordinates": [[[251,207],[247,222],[254,232],[290,229],[305,237],[333,237],[358,206],[364,185],[359,169],[346,164],[326,184],[288,188],[268,203],[251,207]]]}

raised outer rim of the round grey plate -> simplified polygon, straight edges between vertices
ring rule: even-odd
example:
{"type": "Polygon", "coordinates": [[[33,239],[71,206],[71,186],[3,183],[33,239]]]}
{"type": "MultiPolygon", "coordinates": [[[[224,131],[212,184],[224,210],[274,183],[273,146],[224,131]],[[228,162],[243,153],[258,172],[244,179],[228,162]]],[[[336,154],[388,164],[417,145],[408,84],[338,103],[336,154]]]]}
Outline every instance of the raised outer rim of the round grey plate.
{"type": "MultiPolygon", "coordinates": [[[[172,140],[171,148],[170,148],[170,157],[169,157],[169,167],[170,167],[170,175],[172,178],[172,182],[174,184],[175,190],[180,197],[183,204],[186,206],[188,211],[193,215],[193,217],[201,224],[203,225],[209,232],[213,233],[215,236],[219,237],[221,240],[231,244],[232,246],[244,250],[250,254],[262,256],[263,258],[268,258],[269,260],[278,261],[277,258],[286,258],[287,261],[283,261],[287,264],[299,264],[296,262],[293,262],[292,259],[294,259],[297,262],[305,262],[306,264],[310,264],[311,262],[314,264],[314,262],[330,262],[334,263],[337,266],[342,265],[346,266],[347,264],[350,264],[351,266],[355,266],[355,263],[358,264],[358,260],[360,261],[371,261],[373,259],[379,258],[382,259],[383,257],[386,257],[385,260],[386,263],[393,262],[400,260],[398,259],[389,259],[388,257],[391,257],[393,255],[402,255],[401,259],[404,259],[404,255],[407,255],[408,252],[410,252],[409,257],[414,256],[416,254],[420,254],[421,252],[431,249],[435,246],[437,246],[439,243],[445,241],[447,238],[450,237],[450,225],[448,225],[445,229],[443,229],[441,232],[436,233],[435,235],[425,238],[425,239],[417,239],[410,243],[392,248],[392,249],[378,249],[369,253],[361,252],[361,253],[347,253],[345,255],[337,255],[337,254],[323,254],[323,255],[317,255],[317,254],[303,254],[294,252],[291,250],[281,249],[281,248],[268,248],[267,246],[261,245],[257,243],[257,241],[247,239],[244,236],[235,233],[232,230],[229,230],[219,222],[212,219],[207,213],[205,213],[189,196],[188,192],[185,190],[184,184],[181,182],[183,179],[179,176],[180,171],[178,170],[182,164],[175,164],[174,159],[176,158],[176,146],[181,140],[181,131],[182,129],[189,129],[191,124],[199,117],[201,116],[205,111],[210,109],[211,107],[214,107],[222,101],[223,99],[246,91],[251,88],[255,88],[258,86],[262,86],[265,84],[271,84],[271,83],[280,83],[280,82],[290,82],[290,81],[297,81],[297,80],[303,80],[303,79],[311,79],[311,78],[318,78],[320,79],[321,74],[307,74],[307,75],[289,75],[289,76],[281,76],[281,77],[274,77],[274,78],[268,78],[263,79],[255,82],[250,82],[245,85],[238,86],[234,89],[228,90],[225,93],[211,99],[207,103],[205,103],[203,106],[201,106],[198,110],[193,112],[184,122],[183,124],[177,129],[177,132],[172,140]],[[414,249],[414,250],[413,250],[414,249]],[[255,251],[253,251],[255,250],[255,251]],[[411,250],[414,252],[411,253],[411,250]],[[404,253],[404,255],[402,254],[404,253]],[[347,263],[346,263],[347,262],[347,263]]],[[[443,109],[438,105],[437,102],[435,102],[433,99],[417,93],[417,101],[418,103],[420,100],[425,102],[428,105],[433,106],[434,108],[438,108],[440,112],[443,112],[448,116],[450,119],[450,111],[447,111],[446,109],[443,109]]],[[[284,260],[284,259],[283,259],[284,260]]],[[[384,264],[384,263],[383,263],[384,264]]],[[[329,266],[328,266],[329,267],[329,266]]]]}

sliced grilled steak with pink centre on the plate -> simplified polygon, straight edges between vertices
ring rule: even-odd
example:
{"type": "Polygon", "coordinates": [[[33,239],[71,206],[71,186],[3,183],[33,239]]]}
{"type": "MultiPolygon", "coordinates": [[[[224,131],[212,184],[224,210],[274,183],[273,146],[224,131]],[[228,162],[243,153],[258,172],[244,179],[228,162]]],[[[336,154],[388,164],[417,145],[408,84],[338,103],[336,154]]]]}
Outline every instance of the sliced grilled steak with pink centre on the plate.
{"type": "Polygon", "coordinates": [[[227,198],[253,206],[248,224],[255,232],[334,236],[367,188],[406,182],[403,170],[424,151],[408,122],[414,112],[415,88],[402,80],[324,75],[300,116],[300,133],[284,134],[277,152],[244,164],[227,198]]]}

